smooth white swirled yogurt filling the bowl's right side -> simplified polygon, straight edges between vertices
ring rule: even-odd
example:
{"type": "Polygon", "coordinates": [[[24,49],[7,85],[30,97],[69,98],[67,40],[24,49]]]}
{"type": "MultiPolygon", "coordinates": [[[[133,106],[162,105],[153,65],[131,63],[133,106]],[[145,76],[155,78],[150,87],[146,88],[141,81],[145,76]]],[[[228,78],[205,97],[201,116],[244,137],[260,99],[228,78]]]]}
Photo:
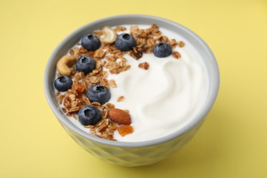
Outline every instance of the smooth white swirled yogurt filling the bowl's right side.
{"type": "MultiPolygon", "coordinates": [[[[129,30],[131,25],[123,26],[129,30]]],[[[153,53],[144,53],[142,58],[135,60],[124,55],[127,64],[131,65],[130,70],[107,77],[114,79],[117,85],[117,88],[110,88],[112,98],[109,103],[129,110],[134,129],[124,137],[115,131],[114,138],[118,141],[140,142],[167,136],[188,125],[207,98],[209,81],[201,55],[179,34],[163,28],[160,31],[169,39],[185,42],[184,47],[173,49],[181,54],[181,58],[177,60],[172,55],[156,58],[153,53]],[[149,63],[147,71],[138,67],[142,62],[149,63]],[[117,102],[120,96],[125,100],[117,102]]],[[[78,120],[71,120],[80,129],[89,131],[78,120]]]]}

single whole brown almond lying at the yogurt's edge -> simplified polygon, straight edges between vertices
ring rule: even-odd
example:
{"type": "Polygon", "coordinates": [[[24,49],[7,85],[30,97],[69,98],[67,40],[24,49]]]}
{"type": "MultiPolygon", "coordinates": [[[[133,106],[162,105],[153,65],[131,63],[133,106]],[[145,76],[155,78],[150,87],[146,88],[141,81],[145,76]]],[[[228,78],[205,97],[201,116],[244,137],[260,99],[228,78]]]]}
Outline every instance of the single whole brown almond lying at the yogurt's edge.
{"type": "Polygon", "coordinates": [[[114,123],[118,123],[120,125],[131,124],[131,116],[124,110],[113,108],[108,112],[108,116],[110,117],[110,120],[112,120],[114,123]]]}

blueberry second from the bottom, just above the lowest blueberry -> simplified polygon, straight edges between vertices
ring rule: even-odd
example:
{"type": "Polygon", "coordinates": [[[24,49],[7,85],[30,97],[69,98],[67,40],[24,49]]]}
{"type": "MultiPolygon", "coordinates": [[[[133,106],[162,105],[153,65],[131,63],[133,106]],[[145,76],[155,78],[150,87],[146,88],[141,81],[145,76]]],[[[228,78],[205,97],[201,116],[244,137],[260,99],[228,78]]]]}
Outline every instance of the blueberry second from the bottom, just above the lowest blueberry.
{"type": "Polygon", "coordinates": [[[91,102],[98,102],[101,105],[107,103],[111,98],[110,90],[105,86],[92,86],[87,92],[87,97],[91,102]]]}

